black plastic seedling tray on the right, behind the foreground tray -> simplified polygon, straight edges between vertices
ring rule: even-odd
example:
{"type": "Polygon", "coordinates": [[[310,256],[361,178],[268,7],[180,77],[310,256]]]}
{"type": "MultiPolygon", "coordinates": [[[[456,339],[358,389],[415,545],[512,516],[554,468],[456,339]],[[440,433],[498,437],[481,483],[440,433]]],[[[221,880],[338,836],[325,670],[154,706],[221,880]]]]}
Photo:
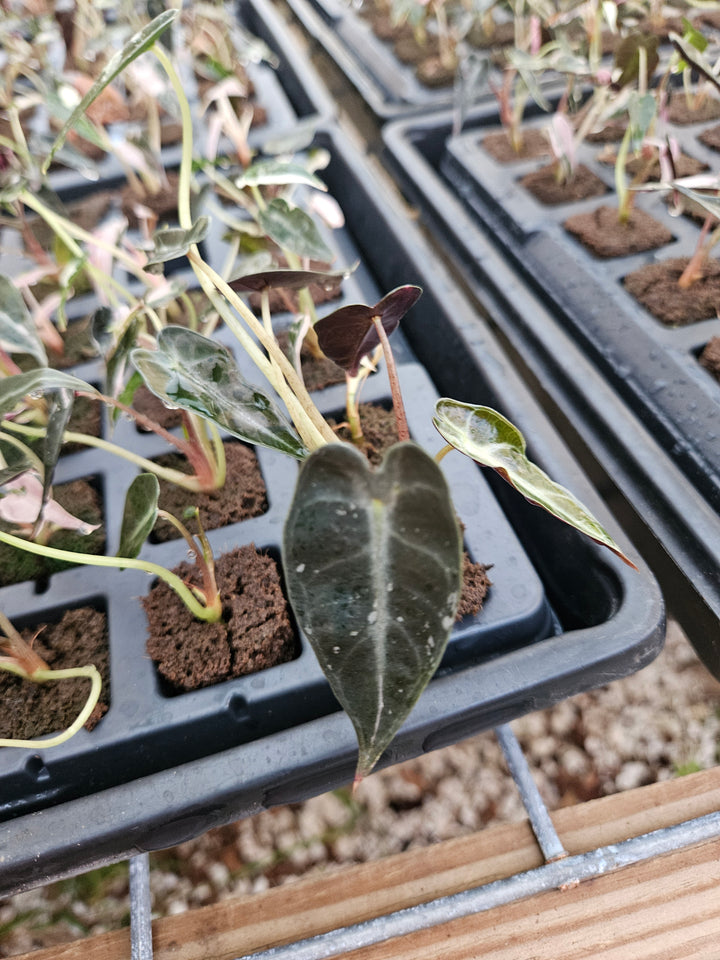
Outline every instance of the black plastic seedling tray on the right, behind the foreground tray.
{"type": "MultiPolygon", "coordinates": [[[[483,159],[471,170],[473,143],[491,125],[483,110],[458,138],[449,112],[399,121],[384,131],[388,163],[567,436],[625,500],[624,519],[718,675],[720,385],[698,355],[720,321],[665,327],[621,285],[644,262],[691,251],[698,228],[671,219],[659,196],[640,195],[637,204],[670,225],[673,243],[622,263],[596,259],[561,230],[568,206],[541,208],[520,187],[527,163],[500,170],[483,159]]],[[[685,130],[685,152],[712,163],[710,151],[688,144],[697,132],[685,130]]],[[[612,183],[611,167],[583,160],[612,183]]],[[[612,201],[609,192],[572,212],[612,201]]]]}

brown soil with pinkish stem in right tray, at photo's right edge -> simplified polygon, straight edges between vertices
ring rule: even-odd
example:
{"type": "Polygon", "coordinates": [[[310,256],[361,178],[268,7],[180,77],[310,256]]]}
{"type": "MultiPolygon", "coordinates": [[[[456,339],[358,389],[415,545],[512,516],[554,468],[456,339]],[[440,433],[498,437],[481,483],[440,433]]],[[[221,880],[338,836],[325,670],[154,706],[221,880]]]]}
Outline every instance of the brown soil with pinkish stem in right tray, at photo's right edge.
{"type": "Polygon", "coordinates": [[[687,257],[650,263],[624,280],[625,289],[663,323],[685,326],[715,317],[720,311],[720,261],[708,260],[703,276],[683,289],[678,280],[687,257]]]}

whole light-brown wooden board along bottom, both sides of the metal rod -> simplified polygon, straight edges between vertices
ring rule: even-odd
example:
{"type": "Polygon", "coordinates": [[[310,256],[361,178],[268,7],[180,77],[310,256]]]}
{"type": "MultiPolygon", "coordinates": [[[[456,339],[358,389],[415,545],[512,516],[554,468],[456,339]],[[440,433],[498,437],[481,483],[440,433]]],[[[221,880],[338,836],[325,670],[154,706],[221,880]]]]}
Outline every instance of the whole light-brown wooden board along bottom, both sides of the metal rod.
{"type": "MultiPolygon", "coordinates": [[[[720,768],[553,813],[570,854],[720,809],[720,768]]],[[[234,960],[540,866],[526,822],[222,901],[155,922],[157,960],[234,960]]],[[[126,960],[116,931],[26,960],[126,960]]],[[[719,960],[720,840],[626,867],[348,960],[719,960]]]]}

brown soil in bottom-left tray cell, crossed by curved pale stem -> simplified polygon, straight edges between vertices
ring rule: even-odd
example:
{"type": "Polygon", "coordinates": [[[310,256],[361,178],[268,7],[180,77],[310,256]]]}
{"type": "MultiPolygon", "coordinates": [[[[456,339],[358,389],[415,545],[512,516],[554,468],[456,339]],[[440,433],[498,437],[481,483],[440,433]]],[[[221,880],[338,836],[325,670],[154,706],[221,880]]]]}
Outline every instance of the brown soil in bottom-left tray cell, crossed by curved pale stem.
{"type": "MultiPolygon", "coordinates": [[[[107,620],[92,607],[67,610],[57,623],[40,623],[20,631],[52,670],[94,664],[102,677],[100,700],[86,729],[92,730],[110,704],[107,620]]],[[[0,737],[34,739],[69,727],[89,692],[85,679],[30,683],[0,672],[0,737]]]]}

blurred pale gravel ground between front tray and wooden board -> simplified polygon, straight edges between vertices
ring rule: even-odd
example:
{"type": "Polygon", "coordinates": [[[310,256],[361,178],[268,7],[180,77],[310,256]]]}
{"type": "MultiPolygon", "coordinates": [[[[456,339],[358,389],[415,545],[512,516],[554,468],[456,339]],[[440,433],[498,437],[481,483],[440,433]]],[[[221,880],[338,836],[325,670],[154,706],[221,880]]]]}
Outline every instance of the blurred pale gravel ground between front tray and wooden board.
{"type": "MultiPolygon", "coordinates": [[[[550,809],[720,762],[720,683],[671,621],[640,673],[513,723],[550,809]]],[[[269,810],[152,856],[156,916],[300,876],[426,846],[523,808],[492,733],[337,790],[269,810]]],[[[128,923],[127,867],[116,864],[0,901],[0,957],[128,923]]]]}

